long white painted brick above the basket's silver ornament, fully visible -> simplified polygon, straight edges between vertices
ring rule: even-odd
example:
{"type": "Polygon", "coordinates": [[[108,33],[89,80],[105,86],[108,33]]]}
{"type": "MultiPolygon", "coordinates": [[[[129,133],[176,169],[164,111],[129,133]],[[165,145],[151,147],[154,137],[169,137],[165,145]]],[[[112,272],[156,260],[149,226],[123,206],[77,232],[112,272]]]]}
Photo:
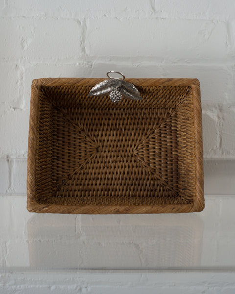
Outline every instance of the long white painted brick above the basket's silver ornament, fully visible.
{"type": "Polygon", "coordinates": [[[225,58],[225,22],[182,19],[90,19],[85,48],[91,56],[201,61],[225,58]],[[187,29],[186,29],[187,28],[187,29]]]}

